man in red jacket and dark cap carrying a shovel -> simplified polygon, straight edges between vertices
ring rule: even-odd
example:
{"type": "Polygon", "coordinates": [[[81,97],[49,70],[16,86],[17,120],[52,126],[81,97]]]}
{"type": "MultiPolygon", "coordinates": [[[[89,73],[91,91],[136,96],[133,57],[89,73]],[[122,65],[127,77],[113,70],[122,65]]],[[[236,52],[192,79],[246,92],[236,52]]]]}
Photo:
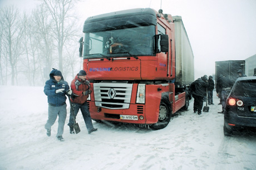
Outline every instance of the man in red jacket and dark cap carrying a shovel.
{"type": "MultiPolygon", "coordinates": [[[[91,90],[90,82],[86,80],[85,70],[79,71],[75,79],[73,79],[73,81],[71,82],[71,89],[71,102],[73,105],[73,114],[75,119],[80,109],[82,112],[83,120],[85,120],[85,125],[88,133],[90,134],[91,132],[97,131],[97,128],[93,128],[91,115],[87,105],[87,98],[88,95],[91,93],[91,90]]],[[[73,128],[74,120],[72,115],[70,115],[70,121],[67,125],[70,126],[70,133],[75,133],[73,128]]]]}

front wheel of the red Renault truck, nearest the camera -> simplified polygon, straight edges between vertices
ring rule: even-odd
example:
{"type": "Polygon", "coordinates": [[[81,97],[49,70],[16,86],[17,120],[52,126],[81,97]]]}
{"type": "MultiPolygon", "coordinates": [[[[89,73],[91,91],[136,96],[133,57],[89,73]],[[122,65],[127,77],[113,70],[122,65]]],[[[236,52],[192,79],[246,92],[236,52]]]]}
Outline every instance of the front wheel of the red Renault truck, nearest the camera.
{"type": "Polygon", "coordinates": [[[171,105],[168,99],[162,99],[159,106],[159,117],[157,123],[151,125],[152,130],[165,128],[171,120],[171,105]]]}

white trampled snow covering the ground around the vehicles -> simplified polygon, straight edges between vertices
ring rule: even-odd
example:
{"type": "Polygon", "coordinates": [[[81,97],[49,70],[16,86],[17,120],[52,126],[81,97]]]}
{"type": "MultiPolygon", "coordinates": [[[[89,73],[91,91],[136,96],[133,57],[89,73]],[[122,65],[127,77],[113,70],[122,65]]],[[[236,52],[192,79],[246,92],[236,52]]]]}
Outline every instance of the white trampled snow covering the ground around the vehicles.
{"type": "MultiPolygon", "coordinates": [[[[93,121],[88,135],[82,115],[81,132],[64,142],[44,128],[48,117],[43,87],[0,86],[0,169],[256,169],[256,134],[223,135],[223,114],[215,105],[202,115],[179,112],[163,130],[93,121]]],[[[69,104],[67,102],[67,109],[69,104]]]]}

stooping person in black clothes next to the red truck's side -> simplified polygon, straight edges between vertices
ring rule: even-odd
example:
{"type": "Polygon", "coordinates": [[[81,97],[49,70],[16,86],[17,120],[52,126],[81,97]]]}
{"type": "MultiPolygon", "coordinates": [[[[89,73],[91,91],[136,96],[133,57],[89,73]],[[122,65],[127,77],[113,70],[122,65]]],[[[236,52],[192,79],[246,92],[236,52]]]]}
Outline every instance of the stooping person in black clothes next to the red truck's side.
{"type": "Polygon", "coordinates": [[[190,86],[190,91],[192,93],[192,96],[194,97],[194,113],[196,113],[197,111],[198,115],[201,115],[207,87],[208,81],[207,77],[205,76],[195,80],[190,86]]]}

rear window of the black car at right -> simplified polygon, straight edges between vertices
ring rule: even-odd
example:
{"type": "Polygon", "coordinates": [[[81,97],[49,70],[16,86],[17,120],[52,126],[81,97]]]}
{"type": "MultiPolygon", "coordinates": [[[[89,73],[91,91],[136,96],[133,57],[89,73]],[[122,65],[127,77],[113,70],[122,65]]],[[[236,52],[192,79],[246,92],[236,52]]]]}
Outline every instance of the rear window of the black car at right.
{"type": "Polygon", "coordinates": [[[256,80],[237,81],[232,91],[236,96],[256,97],[256,80]]]}

